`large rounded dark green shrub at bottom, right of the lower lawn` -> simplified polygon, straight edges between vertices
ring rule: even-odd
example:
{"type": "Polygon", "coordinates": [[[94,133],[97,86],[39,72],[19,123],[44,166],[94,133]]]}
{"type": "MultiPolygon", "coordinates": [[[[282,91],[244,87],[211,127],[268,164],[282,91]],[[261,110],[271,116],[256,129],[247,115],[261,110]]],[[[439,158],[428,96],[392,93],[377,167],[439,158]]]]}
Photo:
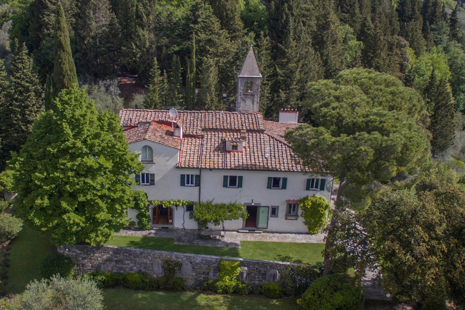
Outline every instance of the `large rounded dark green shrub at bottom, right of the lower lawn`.
{"type": "Polygon", "coordinates": [[[355,278],[347,274],[336,273],[315,280],[299,303],[301,310],[361,310],[365,294],[355,278]]]}

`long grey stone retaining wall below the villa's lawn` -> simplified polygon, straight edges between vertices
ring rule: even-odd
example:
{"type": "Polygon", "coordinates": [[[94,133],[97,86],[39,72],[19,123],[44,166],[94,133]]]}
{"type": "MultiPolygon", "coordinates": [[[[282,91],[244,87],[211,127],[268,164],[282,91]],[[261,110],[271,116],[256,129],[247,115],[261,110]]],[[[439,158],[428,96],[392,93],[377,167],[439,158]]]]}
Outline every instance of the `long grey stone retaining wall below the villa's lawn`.
{"type": "Polygon", "coordinates": [[[239,261],[242,266],[239,279],[248,281],[252,285],[279,282],[283,270],[297,265],[284,262],[134,249],[111,245],[62,246],[58,248],[58,252],[73,259],[78,274],[95,270],[123,273],[144,271],[150,276],[158,277],[163,275],[163,261],[179,261],[182,263],[182,267],[177,276],[183,277],[185,284],[192,288],[200,288],[203,281],[218,278],[218,264],[223,259],[239,261]]]}

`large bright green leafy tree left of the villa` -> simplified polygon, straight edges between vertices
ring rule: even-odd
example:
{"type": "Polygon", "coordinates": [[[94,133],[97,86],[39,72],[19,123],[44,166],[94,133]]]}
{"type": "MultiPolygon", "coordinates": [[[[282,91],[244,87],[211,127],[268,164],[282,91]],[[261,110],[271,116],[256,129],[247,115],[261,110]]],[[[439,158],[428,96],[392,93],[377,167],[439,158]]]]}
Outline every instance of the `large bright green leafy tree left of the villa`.
{"type": "Polygon", "coordinates": [[[130,154],[117,115],[98,113],[77,86],[41,114],[11,162],[14,208],[53,244],[103,244],[127,224],[131,174],[143,168],[130,154]]]}

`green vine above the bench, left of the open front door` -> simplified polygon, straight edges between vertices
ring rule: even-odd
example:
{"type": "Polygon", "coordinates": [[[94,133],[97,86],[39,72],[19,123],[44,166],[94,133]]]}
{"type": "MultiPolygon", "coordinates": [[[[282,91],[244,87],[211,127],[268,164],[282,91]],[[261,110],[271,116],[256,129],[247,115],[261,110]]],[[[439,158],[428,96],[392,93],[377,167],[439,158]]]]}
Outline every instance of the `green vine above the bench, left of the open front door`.
{"type": "Polygon", "coordinates": [[[189,214],[199,228],[204,228],[213,221],[215,226],[219,226],[224,221],[233,219],[246,219],[247,212],[242,204],[213,204],[212,201],[199,202],[195,204],[194,211],[189,214]]]}

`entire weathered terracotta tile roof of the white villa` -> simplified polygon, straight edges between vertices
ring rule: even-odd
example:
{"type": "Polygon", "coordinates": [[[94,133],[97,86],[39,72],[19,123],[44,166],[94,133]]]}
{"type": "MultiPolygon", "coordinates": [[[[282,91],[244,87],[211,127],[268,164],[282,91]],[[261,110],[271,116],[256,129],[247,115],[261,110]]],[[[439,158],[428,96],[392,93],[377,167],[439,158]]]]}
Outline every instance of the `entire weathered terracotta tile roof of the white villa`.
{"type": "Polygon", "coordinates": [[[126,129],[128,143],[151,139],[175,145],[180,148],[178,167],[309,171],[284,139],[286,129],[297,124],[263,121],[259,112],[179,111],[176,120],[184,125],[180,146],[171,126],[159,124],[168,120],[166,110],[123,109],[120,117],[122,126],[128,126],[130,119],[133,124],[151,122],[126,129]],[[225,141],[242,141],[241,134],[246,139],[244,150],[226,152],[225,141]]]}

